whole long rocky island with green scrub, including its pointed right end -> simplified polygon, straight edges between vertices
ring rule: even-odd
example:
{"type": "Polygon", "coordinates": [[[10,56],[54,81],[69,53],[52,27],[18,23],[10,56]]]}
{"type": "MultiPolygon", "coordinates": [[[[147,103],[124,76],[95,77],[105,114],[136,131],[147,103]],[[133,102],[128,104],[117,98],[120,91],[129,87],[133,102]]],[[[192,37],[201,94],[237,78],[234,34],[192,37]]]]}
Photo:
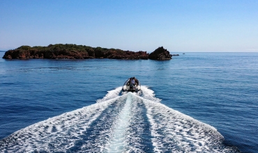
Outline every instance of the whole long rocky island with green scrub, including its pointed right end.
{"type": "Polygon", "coordinates": [[[47,58],[47,59],[88,59],[88,58],[112,58],[112,59],[153,59],[153,60],[170,60],[172,55],[167,49],[158,47],[151,54],[146,51],[123,51],[121,49],[107,49],[101,47],[89,47],[84,45],[73,44],[56,44],[47,47],[29,47],[21,46],[17,49],[6,51],[3,58],[5,59],[30,59],[30,58],[47,58]]]}

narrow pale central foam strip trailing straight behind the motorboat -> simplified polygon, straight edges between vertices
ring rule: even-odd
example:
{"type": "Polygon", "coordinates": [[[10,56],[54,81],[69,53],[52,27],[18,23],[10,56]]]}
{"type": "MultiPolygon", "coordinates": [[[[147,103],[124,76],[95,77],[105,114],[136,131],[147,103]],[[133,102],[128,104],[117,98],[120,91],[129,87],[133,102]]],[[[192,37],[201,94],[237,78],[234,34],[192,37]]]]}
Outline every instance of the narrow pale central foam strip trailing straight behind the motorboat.
{"type": "Polygon", "coordinates": [[[107,152],[125,152],[126,151],[126,129],[130,122],[130,112],[132,104],[132,94],[128,92],[126,104],[123,107],[119,117],[114,123],[114,131],[111,140],[107,143],[107,152]]]}

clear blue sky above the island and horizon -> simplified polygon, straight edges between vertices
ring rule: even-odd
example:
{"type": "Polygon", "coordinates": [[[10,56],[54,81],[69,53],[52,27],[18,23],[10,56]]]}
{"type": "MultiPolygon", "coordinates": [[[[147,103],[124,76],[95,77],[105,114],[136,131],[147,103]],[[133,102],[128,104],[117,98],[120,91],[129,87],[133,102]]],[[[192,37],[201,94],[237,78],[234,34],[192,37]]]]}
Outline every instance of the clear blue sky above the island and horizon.
{"type": "Polygon", "coordinates": [[[257,0],[0,0],[0,50],[258,52],[257,0]]]}

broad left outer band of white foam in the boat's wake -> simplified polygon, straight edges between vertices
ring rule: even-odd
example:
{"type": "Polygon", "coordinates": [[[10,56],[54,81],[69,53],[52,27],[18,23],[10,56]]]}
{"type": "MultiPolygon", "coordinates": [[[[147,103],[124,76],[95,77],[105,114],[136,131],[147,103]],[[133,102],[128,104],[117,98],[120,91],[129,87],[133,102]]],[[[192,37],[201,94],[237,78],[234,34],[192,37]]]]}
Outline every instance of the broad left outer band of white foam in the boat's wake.
{"type": "MultiPolygon", "coordinates": [[[[117,99],[117,98],[116,98],[117,99]]],[[[66,152],[116,99],[93,104],[20,129],[0,142],[1,152],[66,152]],[[53,144],[54,146],[50,146],[53,144]],[[54,147],[51,149],[50,147],[54,147]]]]}

